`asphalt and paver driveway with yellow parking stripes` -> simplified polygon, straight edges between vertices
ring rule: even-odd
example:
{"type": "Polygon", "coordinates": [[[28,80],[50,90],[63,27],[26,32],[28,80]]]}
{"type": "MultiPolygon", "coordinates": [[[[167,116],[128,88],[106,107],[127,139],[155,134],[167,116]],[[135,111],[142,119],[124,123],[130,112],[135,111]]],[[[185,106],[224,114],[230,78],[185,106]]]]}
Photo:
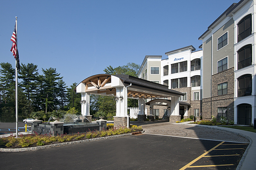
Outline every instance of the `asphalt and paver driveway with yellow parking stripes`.
{"type": "Polygon", "coordinates": [[[235,170],[248,146],[243,136],[230,132],[161,121],[136,123],[145,129],[144,134],[36,151],[0,152],[1,168],[235,170]]]}

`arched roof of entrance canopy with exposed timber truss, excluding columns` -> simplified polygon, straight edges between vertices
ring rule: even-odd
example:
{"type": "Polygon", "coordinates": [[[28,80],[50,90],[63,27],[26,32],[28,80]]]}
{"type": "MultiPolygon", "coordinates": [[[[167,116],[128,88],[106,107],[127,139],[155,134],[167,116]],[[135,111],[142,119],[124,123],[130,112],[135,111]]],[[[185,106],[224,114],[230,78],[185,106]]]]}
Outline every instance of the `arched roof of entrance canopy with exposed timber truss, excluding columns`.
{"type": "Polygon", "coordinates": [[[168,86],[146,81],[125,74],[108,75],[98,74],[90,76],[82,81],[77,87],[77,93],[87,92],[98,95],[116,96],[116,87],[127,87],[128,98],[167,98],[184,95],[168,86]],[[131,86],[129,86],[131,84],[131,86]],[[82,87],[84,85],[84,87],[82,87]]]}

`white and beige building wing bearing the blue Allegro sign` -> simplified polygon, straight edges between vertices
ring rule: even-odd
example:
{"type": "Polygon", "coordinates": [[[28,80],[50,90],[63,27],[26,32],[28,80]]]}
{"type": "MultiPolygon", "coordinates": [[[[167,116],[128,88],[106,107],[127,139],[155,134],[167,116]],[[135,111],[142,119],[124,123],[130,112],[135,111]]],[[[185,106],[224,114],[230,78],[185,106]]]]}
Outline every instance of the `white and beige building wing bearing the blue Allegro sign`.
{"type": "MultiPolygon", "coordinates": [[[[166,52],[167,59],[161,55],[146,55],[138,77],[155,83],[167,85],[169,89],[182,92],[185,95],[180,98],[181,118],[202,115],[202,59],[203,51],[195,51],[193,46],[183,47],[166,52]],[[193,52],[194,51],[194,52],[193,52]]],[[[170,98],[166,98],[170,100],[170,98]]],[[[146,101],[149,102],[149,101],[146,101]]],[[[149,106],[147,115],[150,114],[149,106]]],[[[153,115],[165,118],[168,108],[162,104],[154,105],[153,115]]]]}

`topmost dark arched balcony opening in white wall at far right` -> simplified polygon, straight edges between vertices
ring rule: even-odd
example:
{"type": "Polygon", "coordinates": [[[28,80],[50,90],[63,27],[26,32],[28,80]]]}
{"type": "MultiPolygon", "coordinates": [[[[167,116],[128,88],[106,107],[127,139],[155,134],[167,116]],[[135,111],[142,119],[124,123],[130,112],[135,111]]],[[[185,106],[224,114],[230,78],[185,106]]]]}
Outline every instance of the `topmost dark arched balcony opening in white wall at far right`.
{"type": "Polygon", "coordinates": [[[238,23],[238,42],[252,34],[252,15],[247,15],[238,23]]]}

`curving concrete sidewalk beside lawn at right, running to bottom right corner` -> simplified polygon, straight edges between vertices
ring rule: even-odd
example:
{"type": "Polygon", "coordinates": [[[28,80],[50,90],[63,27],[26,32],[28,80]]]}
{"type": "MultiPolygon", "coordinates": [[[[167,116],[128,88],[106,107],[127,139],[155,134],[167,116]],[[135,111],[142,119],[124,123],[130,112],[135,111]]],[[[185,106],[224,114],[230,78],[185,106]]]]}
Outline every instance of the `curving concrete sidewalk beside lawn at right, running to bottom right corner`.
{"type": "Polygon", "coordinates": [[[237,166],[237,170],[256,170],[256,158],[255,158],[255,156],[256,156],[256,133],[243,131],[243,130],[239,130],[239,129],[228,128],[228,127],[207,126],[207,125],[188,124],[188,123],[190,123],[190,122],[184,122],[184,123],[178,123],[178,124],[218,129],[221,131],[239,134],[239,135],[247,138],[247,140],[250,141],[250,144],[248,145],[246,151],[244,152],[243,157],[237,166]]]}

